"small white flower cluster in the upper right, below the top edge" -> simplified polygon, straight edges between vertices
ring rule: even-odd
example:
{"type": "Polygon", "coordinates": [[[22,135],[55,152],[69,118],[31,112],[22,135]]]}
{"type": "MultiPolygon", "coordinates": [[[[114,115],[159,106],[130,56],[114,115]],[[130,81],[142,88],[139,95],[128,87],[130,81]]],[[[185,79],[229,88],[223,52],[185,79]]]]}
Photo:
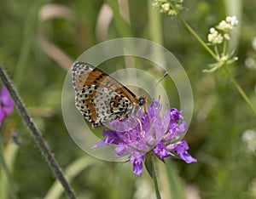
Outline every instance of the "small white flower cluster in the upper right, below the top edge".
{"type": "Polygon", "coordinates": [[[212,44],[223,43],[225,40],[230,40],[230,31],[238,25],[236,16],[227,16],[225,20],[222,20],[218,26],[210,29],[208,34],[208,42],[212,44]]]}

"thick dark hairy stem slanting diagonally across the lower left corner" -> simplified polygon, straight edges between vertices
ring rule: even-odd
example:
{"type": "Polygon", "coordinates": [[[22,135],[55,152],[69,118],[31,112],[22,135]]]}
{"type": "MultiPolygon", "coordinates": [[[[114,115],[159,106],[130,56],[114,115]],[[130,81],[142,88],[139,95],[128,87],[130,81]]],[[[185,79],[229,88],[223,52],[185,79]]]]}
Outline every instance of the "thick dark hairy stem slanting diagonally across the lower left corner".
{"type": "Polygon", "coordinates": [[[14,86],[12,85],[8,75],[3,70],[2,65],[0,65],[0,77],[3,81],[3,84],[8,89],[10,96],[15,101],[15,105],[17,106],[18,110],[20,111],[20,115],[23,118],[24,122],[26,122],[26,126],[30,129],[33,139],[35,139],[39,150],[42,152],[43,156],[45,157],[46,161],[49,164],[49,168],[55,173],[56,178],[61,182],[66,194],[69,198],[75,199],[75,193],[67,182],[64,174],[61,171],[61,167],[59,166],[58,162],[56,162],[54,155],[49,149],[49,145],[44,141],[42,134],[39,132],[38,128],[36,127],[35,123],[32,122],[32,117],[26,111],[25,105],[20,99],[19,94],[15,91],[14,86]]]}

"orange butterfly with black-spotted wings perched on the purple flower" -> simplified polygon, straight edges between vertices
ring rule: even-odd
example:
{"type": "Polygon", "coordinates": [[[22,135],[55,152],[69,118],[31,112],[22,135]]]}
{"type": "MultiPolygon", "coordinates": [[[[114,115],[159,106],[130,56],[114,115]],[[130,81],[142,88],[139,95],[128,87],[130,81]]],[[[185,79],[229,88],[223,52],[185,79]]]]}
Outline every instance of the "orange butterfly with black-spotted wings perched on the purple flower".
{"type": "Polygon", "coordinates": [[[136,114],[147,103],[97,67],[77,61],[73,64],[75,105],[92,128],[136,114]]]}

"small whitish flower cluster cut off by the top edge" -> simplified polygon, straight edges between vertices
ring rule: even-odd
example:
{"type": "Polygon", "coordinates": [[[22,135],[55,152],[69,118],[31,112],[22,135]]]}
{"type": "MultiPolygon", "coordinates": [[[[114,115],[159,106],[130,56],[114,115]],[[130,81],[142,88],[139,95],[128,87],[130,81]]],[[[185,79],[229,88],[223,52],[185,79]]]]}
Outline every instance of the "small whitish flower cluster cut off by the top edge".
{"type": "MultiPolygon", "coordinates": [[[[176,8],[181,8],[180,4],[183,3],[183,0],[174,0],[173,2],[176,8]]],[[[168,15],[177,14],[177,12],[174,9],[172,9],[171,3],[169,3],[167,0],[154,0],[152,6],[160,13],[165,13],[168,15]]]]}

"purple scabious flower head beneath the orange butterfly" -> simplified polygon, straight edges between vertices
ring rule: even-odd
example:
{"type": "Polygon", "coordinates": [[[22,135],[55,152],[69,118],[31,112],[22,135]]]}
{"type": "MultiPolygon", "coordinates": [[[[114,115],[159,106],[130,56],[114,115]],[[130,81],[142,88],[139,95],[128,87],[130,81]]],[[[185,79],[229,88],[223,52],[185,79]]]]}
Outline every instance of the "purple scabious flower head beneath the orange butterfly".
{"type": "Polygon", "coordinates": [[[148,152],[164,159],[168,156],[179,156],[187,163],[197,160],[190,156],[189,145],[184,140],[177,139],[187,129],[181,111],[172,108],[160,117],[159,100],[153,100],[148,111],[138,111],[137,117],[130,116],[127,120],[110,122],[113,130],[104,130],[106,138],[96,144],[117,145],[115,152],[118,156],[129,156],[133,165],[133,173],[143,173],[143,160],[148,152]]]}

